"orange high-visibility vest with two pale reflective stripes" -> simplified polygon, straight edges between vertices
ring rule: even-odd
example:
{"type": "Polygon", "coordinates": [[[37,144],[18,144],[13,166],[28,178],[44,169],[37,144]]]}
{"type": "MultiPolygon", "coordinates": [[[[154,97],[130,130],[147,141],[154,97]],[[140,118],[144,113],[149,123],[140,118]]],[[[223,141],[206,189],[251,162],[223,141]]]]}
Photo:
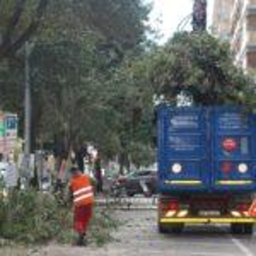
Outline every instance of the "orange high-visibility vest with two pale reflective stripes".
{"type": "Polygon", "coordinates": [[[80,174],[73,177],[70,181],[70,188],[73,192],[75,206],[93,203],[93,187],[87,175],[80,174]]]}

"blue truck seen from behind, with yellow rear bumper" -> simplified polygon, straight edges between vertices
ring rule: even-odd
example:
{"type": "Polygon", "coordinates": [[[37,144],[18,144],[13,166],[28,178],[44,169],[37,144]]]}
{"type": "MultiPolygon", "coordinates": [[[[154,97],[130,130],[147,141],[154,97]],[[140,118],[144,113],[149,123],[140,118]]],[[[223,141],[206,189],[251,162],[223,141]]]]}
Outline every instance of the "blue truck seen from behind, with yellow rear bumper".
{"type": "Polygon", "coordinates": [[[238,107],[157,108],[158,230],[256,220],[256,117],[238,107]]]}

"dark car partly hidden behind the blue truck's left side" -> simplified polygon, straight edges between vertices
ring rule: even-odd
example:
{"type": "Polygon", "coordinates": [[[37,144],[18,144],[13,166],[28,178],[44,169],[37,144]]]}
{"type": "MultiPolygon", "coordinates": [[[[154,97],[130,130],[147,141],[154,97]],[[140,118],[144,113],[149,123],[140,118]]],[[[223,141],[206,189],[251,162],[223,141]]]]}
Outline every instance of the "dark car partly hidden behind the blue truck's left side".
{"type": "Polygon", "coordinates": [[[157,193],[157,172],[143,170],[119,176],[114,182],[113,189],[116,195],[119,193],[127,196],[137,194],[151,196],[157,193]]]}

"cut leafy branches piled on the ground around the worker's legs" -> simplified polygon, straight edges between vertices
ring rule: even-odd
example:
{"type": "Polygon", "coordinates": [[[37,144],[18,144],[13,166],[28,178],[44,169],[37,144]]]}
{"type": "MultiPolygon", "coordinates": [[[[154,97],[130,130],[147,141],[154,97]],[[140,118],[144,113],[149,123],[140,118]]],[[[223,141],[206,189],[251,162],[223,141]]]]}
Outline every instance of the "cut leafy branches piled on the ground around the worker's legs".
{"type": "MultiPolygon", "coordinates": [[[[0,219],[0,238],[7,241],[25,244],[74,242],[72,212],[60,206],[51,195],[34,190],[13,191],[8,201],[0,198],[0,219]]],[[[95,209],[90,241],[96,244],[108,242],[116,225],[110,210],[95,209]]]]}

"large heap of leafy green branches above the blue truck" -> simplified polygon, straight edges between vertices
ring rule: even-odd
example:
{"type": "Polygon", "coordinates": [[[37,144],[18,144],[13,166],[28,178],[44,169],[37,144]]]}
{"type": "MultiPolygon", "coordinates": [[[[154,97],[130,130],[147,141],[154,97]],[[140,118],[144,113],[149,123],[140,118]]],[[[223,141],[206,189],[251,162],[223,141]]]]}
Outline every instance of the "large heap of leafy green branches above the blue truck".
{"type": "Polygon", "coordinates": [[[249,84],[228,45],[204,32],[175,34],[151,58],[150,81],[167,99],[185,90],[203,105],[239,103],[237,92],[249,84]]]}

